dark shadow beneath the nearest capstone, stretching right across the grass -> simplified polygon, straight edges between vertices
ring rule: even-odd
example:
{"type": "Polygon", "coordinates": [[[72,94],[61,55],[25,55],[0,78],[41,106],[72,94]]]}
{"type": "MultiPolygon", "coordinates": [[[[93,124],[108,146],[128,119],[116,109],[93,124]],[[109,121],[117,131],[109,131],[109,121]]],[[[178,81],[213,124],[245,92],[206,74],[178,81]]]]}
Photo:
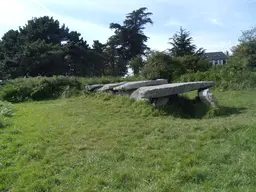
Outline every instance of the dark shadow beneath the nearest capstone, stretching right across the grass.
{"type": "Polygon", "coordinates": [[[165,107],[159,107],[158,110],[165,115],[171,115],[185,119],[201,119],[213,117],[225,117],[241,114],[246,108],[236,108],[219,106],[211,108],[202,103],[199,98],[189,99],[185,96],[173,96],[165,107]]]}

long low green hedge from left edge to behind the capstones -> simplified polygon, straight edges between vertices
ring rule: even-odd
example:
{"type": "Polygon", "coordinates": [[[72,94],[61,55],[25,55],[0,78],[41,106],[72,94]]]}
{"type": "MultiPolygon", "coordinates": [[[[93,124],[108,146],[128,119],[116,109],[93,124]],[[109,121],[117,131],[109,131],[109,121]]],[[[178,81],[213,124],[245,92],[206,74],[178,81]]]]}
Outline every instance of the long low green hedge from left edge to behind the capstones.
{"type": "Polygon", "coordinates": [[[0,97],[2,100],[12,103],[71,97],[82,93],[85,85],[135,81],[140,78],[82,78],[65,76],[18,78],[5,82],[1,87],[0,97]]]}

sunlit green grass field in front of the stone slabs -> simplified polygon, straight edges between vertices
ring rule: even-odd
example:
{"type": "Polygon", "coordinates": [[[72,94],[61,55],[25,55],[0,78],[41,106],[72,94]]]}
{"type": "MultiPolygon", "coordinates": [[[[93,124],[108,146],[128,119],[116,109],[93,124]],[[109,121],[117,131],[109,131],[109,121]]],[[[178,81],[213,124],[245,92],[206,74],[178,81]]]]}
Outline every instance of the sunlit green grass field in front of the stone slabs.
{"type": "Polygon", "coordinates": [[[256,191],[256,92],[179,118],[123,97],[15,104],[0,128],[0,191],[256,191]],[[227,110],[228,109],[228,110],[227,110]]]}

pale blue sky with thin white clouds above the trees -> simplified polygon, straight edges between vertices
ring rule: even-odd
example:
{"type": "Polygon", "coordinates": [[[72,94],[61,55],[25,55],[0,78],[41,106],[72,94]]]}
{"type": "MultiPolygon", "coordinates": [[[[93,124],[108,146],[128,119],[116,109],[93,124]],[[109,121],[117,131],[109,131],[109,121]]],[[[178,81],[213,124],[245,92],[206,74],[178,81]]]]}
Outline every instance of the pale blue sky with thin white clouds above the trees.
{"type": "Polygon", "coordinates": [[[109,24],[121,24],[127,13],[141,7],[153,13],[154,24],[144,33],[150,38],[147,45],[159,51],[171,48],[169,38],[181,26],[206,52],[230,51],[242,30],[256,26],[256,0],[1,0],[0,36],[47,15],[81,33],[90,45],[93,40],[105,43],[114,33],[109,24]]]}

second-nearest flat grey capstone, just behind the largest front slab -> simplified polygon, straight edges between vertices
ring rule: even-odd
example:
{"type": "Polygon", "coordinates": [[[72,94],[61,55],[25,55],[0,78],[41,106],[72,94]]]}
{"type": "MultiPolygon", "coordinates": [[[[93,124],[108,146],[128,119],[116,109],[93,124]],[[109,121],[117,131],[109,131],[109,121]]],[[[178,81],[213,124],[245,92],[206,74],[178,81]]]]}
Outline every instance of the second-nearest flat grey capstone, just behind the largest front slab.
{"type": "Polygon", "coordinates": [[[157,80],[145,80],[145,81],[133,81],[133,82],[127,82],[123,85],[119,85],[114,88],[116,91],[129,91],[129,90],[135,90],[140,87],[145,86],[153,86],[153,85],[162,85],[167,84],[168,81],[166,79],[157,79],[157,80]]]}

